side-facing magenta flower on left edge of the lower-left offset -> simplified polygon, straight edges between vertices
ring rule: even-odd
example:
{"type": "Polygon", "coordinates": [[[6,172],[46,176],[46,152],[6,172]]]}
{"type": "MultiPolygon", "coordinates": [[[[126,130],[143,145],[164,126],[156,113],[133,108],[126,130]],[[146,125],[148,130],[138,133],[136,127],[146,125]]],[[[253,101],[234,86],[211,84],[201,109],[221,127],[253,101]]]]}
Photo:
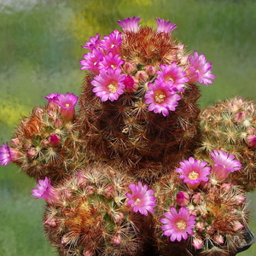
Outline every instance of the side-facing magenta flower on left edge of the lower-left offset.
{"type": "Polygon", "coordinates": [[[32,189],[31,193],[31,195],[35,196],[35,199],[43,198],[48,203],[59,200],[59,192],[50,184],[49,177],[39,179],[36,186],[38,189],[32,189]]]}

